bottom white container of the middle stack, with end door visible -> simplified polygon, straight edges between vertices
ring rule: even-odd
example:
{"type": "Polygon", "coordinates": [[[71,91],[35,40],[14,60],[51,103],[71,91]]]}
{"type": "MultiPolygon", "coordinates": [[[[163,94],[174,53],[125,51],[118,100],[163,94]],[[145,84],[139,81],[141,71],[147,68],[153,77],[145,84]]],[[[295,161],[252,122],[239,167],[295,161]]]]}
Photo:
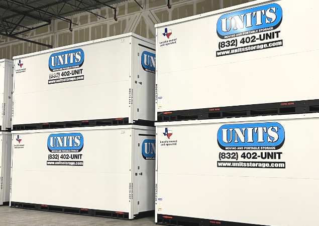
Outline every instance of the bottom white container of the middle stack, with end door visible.
{"type": "Polygon", "coordinates": [[[13,156],[12,207],[129,219],[154,215],[154,127],[14,131],[13,156]]]}

